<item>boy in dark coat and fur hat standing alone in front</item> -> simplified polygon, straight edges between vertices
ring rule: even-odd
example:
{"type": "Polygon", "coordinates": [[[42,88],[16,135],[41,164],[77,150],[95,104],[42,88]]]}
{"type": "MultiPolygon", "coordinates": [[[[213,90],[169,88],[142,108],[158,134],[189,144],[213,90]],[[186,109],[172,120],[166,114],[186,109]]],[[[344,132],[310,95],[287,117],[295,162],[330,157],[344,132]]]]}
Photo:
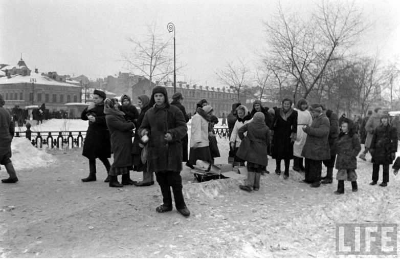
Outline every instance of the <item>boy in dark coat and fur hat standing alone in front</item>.
{"type": "Polygon", "coordinates": [[[172,210],[172,196],[176,209],[185,217],[190,215],[182,193],[182,143],[187,134],[186,120],[177,107],[168,102],[167,90],[164,87],[153,89],[149,106],[142,125],[139,128],[141,137],[147,135],[148,154],[147,171],[155,171],[157,182],[163,195],[163,204],[155,210],[166,212],[172,210]],[[152,107],[154,105],[154,107],[152,107]]]}

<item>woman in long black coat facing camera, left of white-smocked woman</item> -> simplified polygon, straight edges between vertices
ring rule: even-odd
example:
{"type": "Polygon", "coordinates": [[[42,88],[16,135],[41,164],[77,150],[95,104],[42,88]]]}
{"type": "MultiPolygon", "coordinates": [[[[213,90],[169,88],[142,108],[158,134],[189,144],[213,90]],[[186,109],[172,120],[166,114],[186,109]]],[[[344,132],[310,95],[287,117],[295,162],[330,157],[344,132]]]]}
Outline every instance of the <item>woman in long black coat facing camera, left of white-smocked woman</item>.
{"type": "Polygon", "coordinates": [[[276,109],[272,130],[274,131],[272,157],[276,161],[275,172],[281,174],[280,162],[285,162],[283,178],[289,177],[290,160],[293,159],[293,143],[297,138],[297,111],[292,109],[292,100],[285,98],[282,107],[276,109]]]}

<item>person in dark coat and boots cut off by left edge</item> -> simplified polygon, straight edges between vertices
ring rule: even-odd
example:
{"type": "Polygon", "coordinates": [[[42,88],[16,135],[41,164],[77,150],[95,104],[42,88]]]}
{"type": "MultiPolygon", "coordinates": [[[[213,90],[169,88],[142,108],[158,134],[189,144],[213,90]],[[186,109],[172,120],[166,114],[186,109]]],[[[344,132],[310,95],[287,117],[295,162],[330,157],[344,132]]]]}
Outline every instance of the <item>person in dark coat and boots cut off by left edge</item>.
{"type": "Polygon", "coordinates": [[[2,183],[18,182],[17,174],[11,162],[11,141],[14,137],[14,123],[11,115],[3,108],[3,95],[0,94],[0,164],[6,167],[9,178],[2,179],[2,183]]]}

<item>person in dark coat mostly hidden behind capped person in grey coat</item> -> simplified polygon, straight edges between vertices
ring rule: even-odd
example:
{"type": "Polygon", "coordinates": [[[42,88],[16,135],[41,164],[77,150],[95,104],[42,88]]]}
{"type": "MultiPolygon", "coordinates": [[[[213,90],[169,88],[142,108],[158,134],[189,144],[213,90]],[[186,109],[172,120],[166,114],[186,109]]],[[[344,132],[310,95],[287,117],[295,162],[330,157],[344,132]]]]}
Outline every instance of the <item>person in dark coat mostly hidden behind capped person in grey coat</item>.
{"type": "MultiPolygon", "coordinates": [[[[322,110],[326,111],[326,106],[321,104],[322,110]]],[[[326,166],[326,176],[321,178],[323,181],[321,183],[328,184],[332,183],[332,177],[334,174],[334,166],[335,166],[335,159],[337,154],[337,142],[339,136],[339,119],[338,115],[334,113],[332,110],[327,110],[325,112],[326,117],[329,119],[329,136],[328,136],[328,143],[329,143],[329,150],[330,150],[330,159],[326,159],[322,161],[326,166]]],[[[343,123],[343,122],[342,122],[343,123]]]]}

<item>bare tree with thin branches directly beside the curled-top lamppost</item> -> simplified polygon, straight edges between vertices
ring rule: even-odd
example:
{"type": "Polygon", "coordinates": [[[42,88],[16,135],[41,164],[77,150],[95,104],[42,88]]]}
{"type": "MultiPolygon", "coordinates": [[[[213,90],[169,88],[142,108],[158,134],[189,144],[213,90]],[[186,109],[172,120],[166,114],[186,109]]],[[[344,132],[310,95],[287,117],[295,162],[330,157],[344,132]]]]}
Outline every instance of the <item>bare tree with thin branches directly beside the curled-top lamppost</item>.
{"type": "Polygon", "coordinates": [[[148,77],[151,87],[153,79],[162,81],[173,72],[173,57],[170,56],[168,50],[169,40],[163,40],[163,34],[157,32],[157,26],[152,24],[146,27],[147,34],[143,39],[127,38],[134,47],[130,52],[122,53],[121,56],[132,72],[148,77]]]}

